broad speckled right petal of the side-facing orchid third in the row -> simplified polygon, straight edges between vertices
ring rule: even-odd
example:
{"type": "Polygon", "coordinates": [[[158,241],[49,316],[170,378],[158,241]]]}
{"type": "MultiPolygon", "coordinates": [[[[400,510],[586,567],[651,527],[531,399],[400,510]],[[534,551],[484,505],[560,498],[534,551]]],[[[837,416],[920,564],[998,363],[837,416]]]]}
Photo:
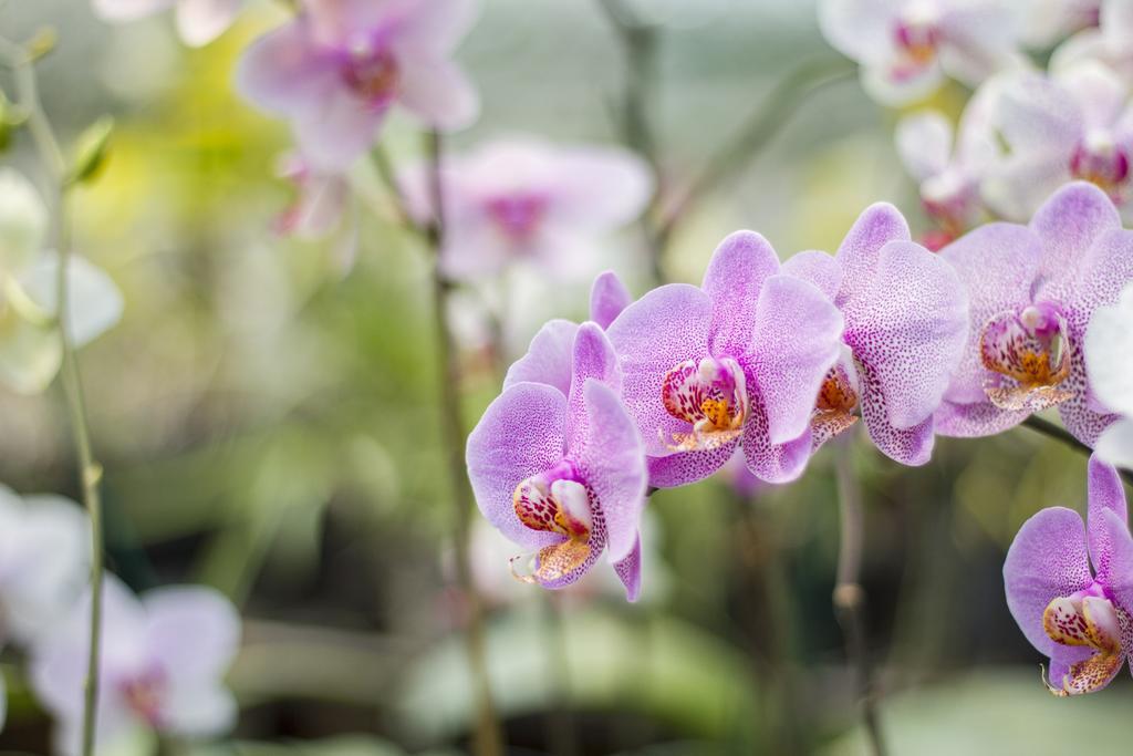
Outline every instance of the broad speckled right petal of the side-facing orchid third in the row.
{"type": "Polygon", "coordinates": [[[874,434],[871,419],[912,428],[936,411],[968,339],[968,295],[947,261],[912,241],[885,245],[871,273],[838,301],[845,342],[867,367],[863,404],[885,407],[864,418],[874,434]]]}

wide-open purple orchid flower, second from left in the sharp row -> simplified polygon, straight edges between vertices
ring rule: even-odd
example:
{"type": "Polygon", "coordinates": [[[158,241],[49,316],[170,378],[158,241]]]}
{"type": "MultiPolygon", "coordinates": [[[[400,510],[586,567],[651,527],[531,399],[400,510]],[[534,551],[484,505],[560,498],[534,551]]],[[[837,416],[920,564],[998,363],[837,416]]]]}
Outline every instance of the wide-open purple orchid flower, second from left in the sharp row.
{"type": "Polygon", "coordinates": [[[741,445],[766,481],[802,473],[815,397],[838,358],[842,315],[819,287],[781,274],[764,237],[732,233],[700,288],[654,289],[608,333],[650,485],[708,477],[741,445]]]}

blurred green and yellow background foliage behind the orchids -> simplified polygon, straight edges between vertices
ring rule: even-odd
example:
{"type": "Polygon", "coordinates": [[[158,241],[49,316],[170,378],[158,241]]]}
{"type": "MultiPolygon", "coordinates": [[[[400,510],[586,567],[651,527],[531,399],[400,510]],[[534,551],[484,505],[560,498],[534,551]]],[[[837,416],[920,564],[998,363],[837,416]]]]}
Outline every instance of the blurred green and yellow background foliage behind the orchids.
{"type": "MultiPolygon", "coordinates": [[[[656,23],[648,114],[668,186],[687,185],[782,77],[834,56],[809,2],[633,5],[656,23]]],[[[202,581],[242,608],[236,739],[193,753],[460,753],[470,683],[446,566],[425,258],[366,165],[353,177],[352,267],[333,244],[271,231],[290,198],[273,177],[288,135],[236,97],[232,70],[282,17],[275,3],[254,3],[219,42],[187,50],[167,17],[108,28],[86,0],[0,3],[6,36],[58,31],[41,66],[58,129],[75,135],[107,112],[118,122],[109,163],[75,207],[80,250],[127,301],[122,324],[83,355],[110,562],[137,589],[202,581]]],[[[625,61],[597,3],[485,0],[460,57],[484,114],[454,148],[517,131],[619,139],[625,61]]],[[[936,104],[955,112],[963,99],[945,91],[936,104]]],[[[824,88],[697,206],[664,261],[668,277],[698,280],[736,228],[761,231],[783,256],[833,249],[876,199],[926,228],[892,126],[855,82],[824,88]]],[[[384,138],[395,163],[420,153],[399,118],[384,138]]],[[[24,136],[6,160],[39,176],[24,136]]],[[[642,292],[638,229],[614,241],[606,266],[642,292]]],[[[461,294],[450,316],[469,426],[543,320],[585,316],[588,286],[516,270],[461,294]]],[[[0,479],[77,493],[60,407],[52,393],[0,391],[0,479]]],[[[893,753],[1054,753],[1087,731],[1101,753],[1127,744],[1128,679],[1104,696],[1053,700],[1003,597],[1012,536],[1042,507],[1081,509],[1084,460],[1028,430],[942,439],[920,469],[850,443],[868,507],[863,584],[893,753]]],[[[602,583],[554,596],[513,583],[508,547],[477,532],[493,688],[514,753],[862,753],[830,609],[829,455],[785,489],[747,495],[721,476],[656,494],[637,605],[602,583]]],[[[44,753],[44,716],[18,679],[10,686],[0,744],[44,753]]]]}

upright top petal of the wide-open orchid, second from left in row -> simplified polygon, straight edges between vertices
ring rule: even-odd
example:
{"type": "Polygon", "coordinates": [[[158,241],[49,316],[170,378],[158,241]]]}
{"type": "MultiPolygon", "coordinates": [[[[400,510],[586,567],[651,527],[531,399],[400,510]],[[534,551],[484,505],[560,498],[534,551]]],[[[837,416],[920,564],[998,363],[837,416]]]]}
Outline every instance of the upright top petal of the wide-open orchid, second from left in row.
{"type": "Polygon", "coordinates": [[[758,233],[735,231],[719,243],[701,284],[712,299],[713,356],[748,354],[764,281],[778,270],[775,249],[758,233]]]}

